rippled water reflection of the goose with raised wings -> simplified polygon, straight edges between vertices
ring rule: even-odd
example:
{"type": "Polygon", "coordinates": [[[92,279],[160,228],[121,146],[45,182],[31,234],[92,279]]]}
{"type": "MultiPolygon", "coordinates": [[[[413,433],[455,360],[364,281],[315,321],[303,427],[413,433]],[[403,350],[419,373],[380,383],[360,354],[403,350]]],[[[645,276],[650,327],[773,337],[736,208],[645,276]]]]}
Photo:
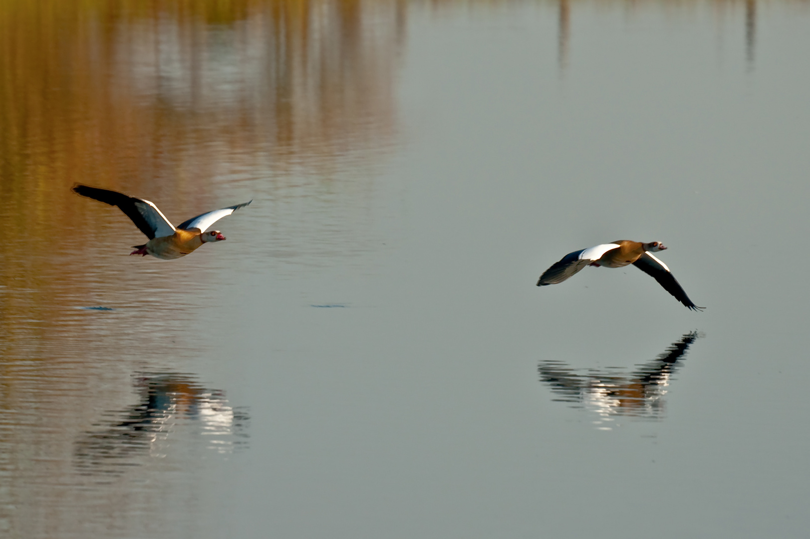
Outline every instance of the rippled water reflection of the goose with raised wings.
{"type": "Polygon", "coordinates": [[[105,413],[112,419],[96,423],[98,430],[76,440],[79,473],[123,473],[145,464],[144,456],[164,457],[169,451],[183,451],[184,446],[185,453],[202,445],[219,454],[247,447],[247,409],[232,408],[223,391],[200,387],[189,374],[134,378],[139,403],[105,413]]]}

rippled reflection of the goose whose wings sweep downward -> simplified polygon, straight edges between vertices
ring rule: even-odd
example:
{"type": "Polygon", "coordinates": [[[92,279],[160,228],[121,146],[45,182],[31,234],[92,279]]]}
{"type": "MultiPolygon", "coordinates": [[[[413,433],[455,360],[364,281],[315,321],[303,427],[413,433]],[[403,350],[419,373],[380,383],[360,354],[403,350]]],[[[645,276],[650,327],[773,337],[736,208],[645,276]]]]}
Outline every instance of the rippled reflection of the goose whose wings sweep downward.
{"type": "Polygon", "coordinates": [[[584,408],[599,415],[594,424],[600,430],[611,430],[613,416],[660,419],[664,412],[667,387],[682,364],[689,346],[703,336],[689,332],[671,344],[654,361],[638,366],[631,374],[590,369],[578,374],[563,361],[542,361],[538,366],[540,381],[548,383],[558,402],[573,408],[584,408]]]}

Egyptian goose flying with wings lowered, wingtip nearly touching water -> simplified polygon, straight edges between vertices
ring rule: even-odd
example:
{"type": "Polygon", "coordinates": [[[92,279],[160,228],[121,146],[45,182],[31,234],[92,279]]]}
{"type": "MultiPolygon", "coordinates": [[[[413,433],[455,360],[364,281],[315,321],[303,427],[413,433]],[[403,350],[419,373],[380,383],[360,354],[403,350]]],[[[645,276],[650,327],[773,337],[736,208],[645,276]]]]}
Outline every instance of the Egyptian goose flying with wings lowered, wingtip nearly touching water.
{"type": "Polygon", "coordinates": [[[612,243],[603,243],[589,249],[574,251],[565,255],[560,262],[549,267],[537,281],[538,286],[546,284],[557,284],[573,276],[586,266],[604,267],[625,267],[628,264],[653,276],[661,286],[675,296],[676,300],[689,307],[691,310],[702,310],[706,307],[696,306],[684,289],[672,276],[667,264],[655,258],[653,253],[664,250],[667,247],[661,242],[630,242],[629,240],[619,240],[612,243]]]}

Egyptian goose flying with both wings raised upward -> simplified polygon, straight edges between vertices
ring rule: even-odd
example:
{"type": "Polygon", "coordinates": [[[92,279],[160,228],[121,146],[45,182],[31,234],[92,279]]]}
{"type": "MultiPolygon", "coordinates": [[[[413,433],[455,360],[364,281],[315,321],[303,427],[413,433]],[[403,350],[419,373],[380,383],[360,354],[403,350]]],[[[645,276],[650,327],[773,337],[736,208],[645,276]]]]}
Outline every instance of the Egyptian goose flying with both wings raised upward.
{"type": "Polygon", "coordinates": [[[203,243],[223,241],[225,237],[219,230],[206,232],[206,229],[224,216],[229,216],[240,207],[245,207],[253,202],[251,200],[244,204],[205,212],[184,221],[175,228],[157,206],[148,200],[109,189],[83,186],[80,183],[73,186],[73,190],[88,199],[95,199],[121,208],[121,211],[126,213],[135,226],[146,234],[149,241],[143,245],[134,246],[135,250],[130,255],[152,255],[156,259],[164,260],[179,259],[202,246],[203,243]]]}

